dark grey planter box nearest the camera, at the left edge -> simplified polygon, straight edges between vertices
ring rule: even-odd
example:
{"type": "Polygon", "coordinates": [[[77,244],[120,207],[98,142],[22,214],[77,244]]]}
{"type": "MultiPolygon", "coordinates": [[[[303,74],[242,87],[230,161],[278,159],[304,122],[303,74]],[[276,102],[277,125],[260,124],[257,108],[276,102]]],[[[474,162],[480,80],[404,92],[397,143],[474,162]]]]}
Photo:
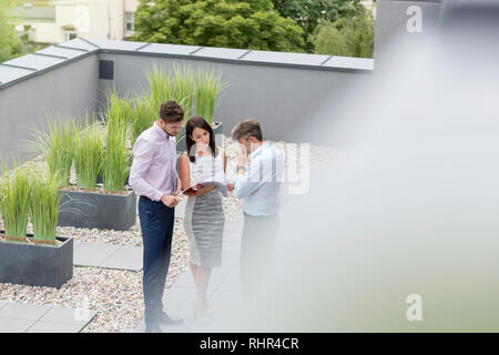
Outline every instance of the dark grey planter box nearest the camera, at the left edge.
{"type": "Polygon", "coordinates": [[[73,277],[73,239],[57,239],[63,243],[50,246],[0,242],[0,282],[60,288],[73,277]]]}

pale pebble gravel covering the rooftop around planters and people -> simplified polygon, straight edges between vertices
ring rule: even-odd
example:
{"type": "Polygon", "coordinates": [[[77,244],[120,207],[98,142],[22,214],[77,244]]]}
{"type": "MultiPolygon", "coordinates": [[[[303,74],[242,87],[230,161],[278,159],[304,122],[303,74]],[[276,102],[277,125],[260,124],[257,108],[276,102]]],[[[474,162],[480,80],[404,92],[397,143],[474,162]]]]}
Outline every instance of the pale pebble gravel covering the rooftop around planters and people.
{"type": "MultiPolygon", "coordinates": [[[[312,171],[326,170],[328,159],[340,154],[338,150],[332,148],[284,142],[274,143],[285,154],[285,164],[288,169],[298,169],[302,166],[302,163],[309,163],[312,171]],[[309,160],[302,162],[301,151],[304,146],[308,149],[309,160]]],[[[237,164],[238,145],[230,138],[224,136],[223,148],[227,155],[227,175],[232,179],[237,164]]],[[[40,173],[47,169],[42,156],[37,156],[26,164],[40,173]]],[[[74,171],[71,182],[75,182],[74,171]]],[[[226,223],[231,222],[241,212],[241,201],[233,193],[224,197],[224,212],[226,223]]],[[[3,221],[0,219],[0,230],[2,229],[3,221]]],[[[30,233],[31,230],[31,224],[29,224],[28,232],[30,233]]],[[[58,227],[58,235],[72,236],[79,241],[93,243],[142,245],[139,216],[136,223],[130,231],[125,232],[58,227]]],[[[175,219],[172,261],[166,278],[166,290],[187,270],[187,257],[189,241],[182,219],[175,219]]],[[[96,311],[98,314],[82,332],[132,332],[143,318],[142,272],[74,267],[73,278],[60,290],[0,283],[0,301],[90,308],[96,311]]]]}

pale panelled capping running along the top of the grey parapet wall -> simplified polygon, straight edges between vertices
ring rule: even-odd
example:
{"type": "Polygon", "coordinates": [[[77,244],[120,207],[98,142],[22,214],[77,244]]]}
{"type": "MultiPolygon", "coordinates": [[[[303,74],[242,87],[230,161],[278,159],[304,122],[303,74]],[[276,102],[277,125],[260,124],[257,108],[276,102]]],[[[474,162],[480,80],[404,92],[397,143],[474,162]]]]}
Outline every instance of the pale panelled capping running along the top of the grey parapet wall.
{"type": "Polygon", "coordinates": [[[374,70],[374,60],[363,58],[78,38],[0,63],[0,90],[95,53],[135,54],[356,73],[370,73],[374,70]]]}

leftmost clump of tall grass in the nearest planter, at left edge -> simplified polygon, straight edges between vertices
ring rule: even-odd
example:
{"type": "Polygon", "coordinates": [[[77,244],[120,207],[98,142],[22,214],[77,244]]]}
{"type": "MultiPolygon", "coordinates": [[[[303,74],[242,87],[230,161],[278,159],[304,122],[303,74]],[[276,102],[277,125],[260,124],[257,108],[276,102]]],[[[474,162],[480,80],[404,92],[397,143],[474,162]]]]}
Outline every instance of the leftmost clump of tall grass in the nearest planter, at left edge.
{"type": "Polygon", "coordinates": [[[0,183],[0,211],[3,217],[6,237],[13,242],[23,242],[27,236],[31,181],[27,168],[7,172],[0,183]]]}

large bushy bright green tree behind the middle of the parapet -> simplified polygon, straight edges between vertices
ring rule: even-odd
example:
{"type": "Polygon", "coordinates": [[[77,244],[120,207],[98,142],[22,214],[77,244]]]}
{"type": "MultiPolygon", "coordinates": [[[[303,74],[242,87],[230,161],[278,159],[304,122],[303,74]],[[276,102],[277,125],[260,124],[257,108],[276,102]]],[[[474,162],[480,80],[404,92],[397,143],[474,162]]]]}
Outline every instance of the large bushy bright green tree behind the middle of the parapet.
{"type": "Polygon", "coordinates": [[[271,0],[141,0],[133,40],[303,51],[303,30],[271,0]]]}

